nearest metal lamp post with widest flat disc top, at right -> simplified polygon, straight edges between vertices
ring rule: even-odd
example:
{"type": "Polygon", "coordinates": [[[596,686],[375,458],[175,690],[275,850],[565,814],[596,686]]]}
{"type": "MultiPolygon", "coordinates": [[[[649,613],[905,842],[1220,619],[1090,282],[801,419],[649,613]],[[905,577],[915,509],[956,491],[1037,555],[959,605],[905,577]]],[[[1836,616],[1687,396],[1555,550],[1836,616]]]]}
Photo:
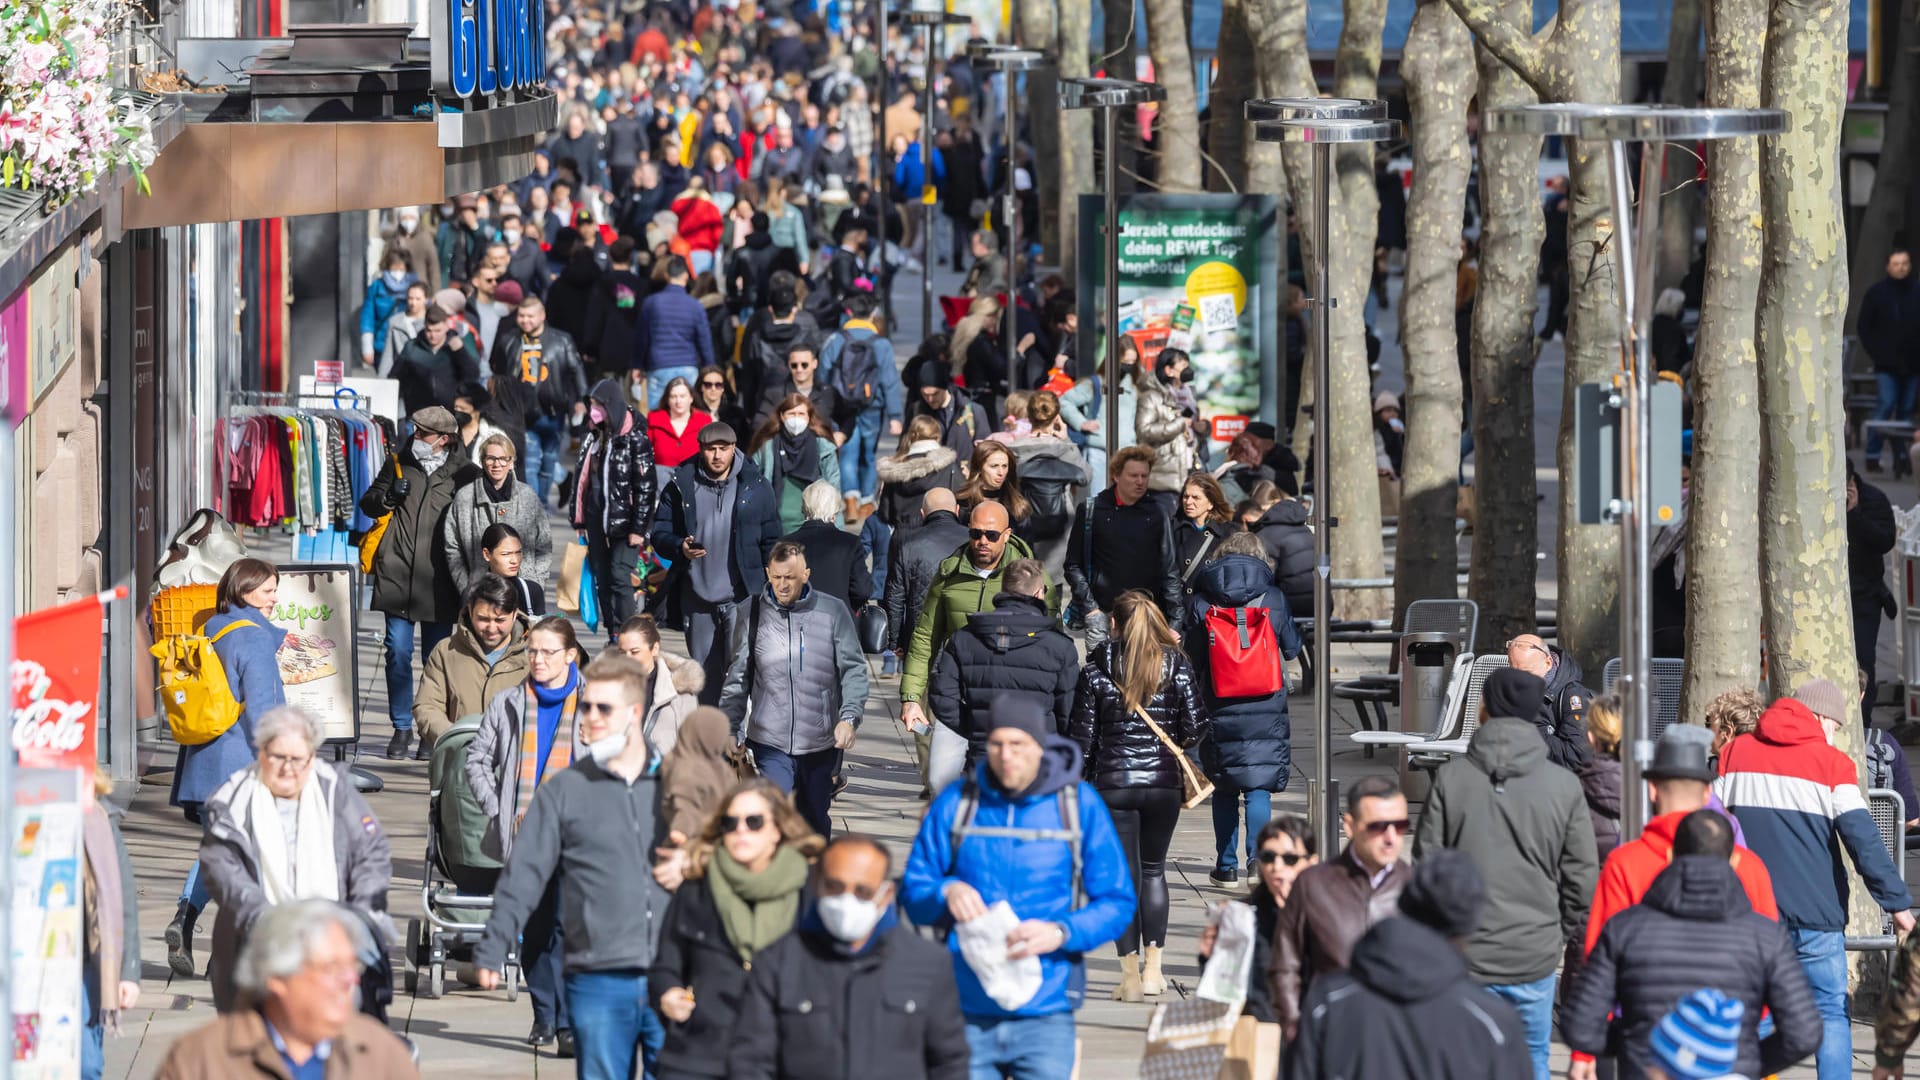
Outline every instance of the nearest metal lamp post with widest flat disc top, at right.
{"type": "MultiPolygon", "coordinates": [[[[1684,110],[1667,106],[1507,106],[1488,110],[1488,135],[1565,135],[1607,144],[1607,194],[1613,204],[1613,269],[1619,282],[1620,371],[1611,405],[1620,411],[1620,496],[1607,515],[1620,525],[1620,838],[1640,836],[1649,817],[1642,773],[1653,761],[1653,519],[1670,507],[1653,498],[1653,259],[1659,250],[1661,161],[1668,142],[1707,142],[1778,135],[1782,110],[1684,110]],[[1640,158],[1640,213],[1628,229],[1632,181],[1626,144],[1645,144],[1640,158]],[[1649,198],[1651,196],[1651,198],[1649,198]]],[[[1678,465],[1678,461],[1674,461],[1678,465]]]]}

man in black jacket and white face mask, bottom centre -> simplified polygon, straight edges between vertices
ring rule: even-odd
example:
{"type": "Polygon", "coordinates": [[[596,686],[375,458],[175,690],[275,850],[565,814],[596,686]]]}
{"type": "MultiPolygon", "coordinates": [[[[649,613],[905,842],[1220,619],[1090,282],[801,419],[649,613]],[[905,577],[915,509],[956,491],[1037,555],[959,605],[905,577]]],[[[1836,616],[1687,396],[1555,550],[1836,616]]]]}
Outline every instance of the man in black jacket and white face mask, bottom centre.
{"type": "Polygon", "coordinates": [[[900,920],[891,871],[893,855],[870,836],[841,836],[820,853],[793,932],[753,959],[728,1076],[966,1074],[952,961],[900,920]]]}

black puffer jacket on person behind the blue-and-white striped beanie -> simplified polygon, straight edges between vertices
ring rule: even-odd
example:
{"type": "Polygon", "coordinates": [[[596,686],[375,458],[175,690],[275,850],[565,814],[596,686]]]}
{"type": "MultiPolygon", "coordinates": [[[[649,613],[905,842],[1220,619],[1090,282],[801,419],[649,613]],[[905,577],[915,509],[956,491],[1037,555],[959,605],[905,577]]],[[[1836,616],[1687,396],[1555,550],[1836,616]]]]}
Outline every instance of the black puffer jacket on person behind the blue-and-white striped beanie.
{"type": "Polygon", "coordinates": [[[1653,1026],[1703,986],[1747,1007],[1734,1072],[1780,1072],[1820,1045],[1820,1013],[1786,928],[1753,911],[1726,859],[1680,855],[1638,905],[1607,920],[1561,1011],[1561,1034],[1572,1049],[1619,1055],[1620,1078],[1636,1080],[1653,1026]],[[1766,1040],[1757,1036],[1763,1005],[1774,1017],[1766,1040]]]}

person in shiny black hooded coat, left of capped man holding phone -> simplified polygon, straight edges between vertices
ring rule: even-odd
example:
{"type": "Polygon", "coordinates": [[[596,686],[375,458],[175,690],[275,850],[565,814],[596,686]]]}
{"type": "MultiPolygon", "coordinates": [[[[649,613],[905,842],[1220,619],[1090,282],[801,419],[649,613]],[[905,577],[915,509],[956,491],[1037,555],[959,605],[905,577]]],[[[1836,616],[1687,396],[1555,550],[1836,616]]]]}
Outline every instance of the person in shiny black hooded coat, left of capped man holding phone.
{"type": "Polygon", "coordinates": [[[634,563],[653,523],[653,440],[612,379],[601,379],[593,388],[588,421],[593,427],[580,444],[566,503],[574,528],[588,544],[601,625],[612,642],[614,628],[634,615],[634,563]]]}

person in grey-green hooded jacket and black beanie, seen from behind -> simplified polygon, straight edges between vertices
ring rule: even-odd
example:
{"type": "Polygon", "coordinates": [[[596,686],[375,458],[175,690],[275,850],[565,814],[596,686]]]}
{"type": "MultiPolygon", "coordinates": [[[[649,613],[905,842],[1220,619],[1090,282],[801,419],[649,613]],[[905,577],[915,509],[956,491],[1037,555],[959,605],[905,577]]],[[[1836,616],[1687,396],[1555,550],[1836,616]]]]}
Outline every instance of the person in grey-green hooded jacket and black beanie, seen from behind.
{"type": "Polygon", "coordinates": [[[1548,761],[1532,717],[1498,711],[1498,701],[1526,709],[1544,700],[1534,675],[1509,667],[1488,676],[1486,715],[1467,753],[1434,774],[1413,838],[1415,855],[1465,851],[1486,876],[1486,915],[1467,938],[1467,969],[1521,1013],[1540,1080],[1549,1068],[1555,970],[1567,942],[1586,934],[1599,876],[1580,778],[1548,761]]]}

